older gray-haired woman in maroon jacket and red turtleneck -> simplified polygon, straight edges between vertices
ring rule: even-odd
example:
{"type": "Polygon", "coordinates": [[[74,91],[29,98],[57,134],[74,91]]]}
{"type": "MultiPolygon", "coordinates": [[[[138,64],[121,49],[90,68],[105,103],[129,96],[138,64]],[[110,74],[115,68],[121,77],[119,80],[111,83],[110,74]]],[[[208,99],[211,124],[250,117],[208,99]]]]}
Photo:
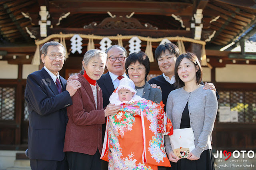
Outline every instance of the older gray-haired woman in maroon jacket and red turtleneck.
{"type": "Polygon", "coordinates": [[[68,124],[64,152],[70,170],[101,169],[102,124],[105,117],[118,112],[120,105],[103,110],[102,90],[96,83],[104,72],[107,54],[91,49],[84,55],[83,70],[78,74],[82,87],[72,96],[68,107],[68,124]]]}

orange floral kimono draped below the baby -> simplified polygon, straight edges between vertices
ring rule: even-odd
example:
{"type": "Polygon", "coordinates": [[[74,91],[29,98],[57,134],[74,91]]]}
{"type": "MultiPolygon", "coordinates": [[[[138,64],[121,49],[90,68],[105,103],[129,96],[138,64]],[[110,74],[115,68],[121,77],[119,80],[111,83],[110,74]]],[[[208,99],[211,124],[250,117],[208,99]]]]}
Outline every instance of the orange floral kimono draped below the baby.
{"type": "Polygon", "coordinates": [[[160,104],[142,99],[124,103],[107,118],[101,159],[109,170],[157,170],[170,166],[164,149],[166,114],[160,104]]]}

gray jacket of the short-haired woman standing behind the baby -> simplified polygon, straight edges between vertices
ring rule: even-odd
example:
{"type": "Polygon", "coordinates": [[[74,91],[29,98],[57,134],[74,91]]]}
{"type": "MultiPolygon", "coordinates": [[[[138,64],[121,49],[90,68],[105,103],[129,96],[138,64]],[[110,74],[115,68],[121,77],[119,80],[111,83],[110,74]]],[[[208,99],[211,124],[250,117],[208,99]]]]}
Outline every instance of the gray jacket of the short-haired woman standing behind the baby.
{"type": "Polygon", "coordinates": [[[150,84],[146,82],[143,89],[142,98],[160,103],[162,101],[162,92],[158,88],[152,88],[150,84]]]}

